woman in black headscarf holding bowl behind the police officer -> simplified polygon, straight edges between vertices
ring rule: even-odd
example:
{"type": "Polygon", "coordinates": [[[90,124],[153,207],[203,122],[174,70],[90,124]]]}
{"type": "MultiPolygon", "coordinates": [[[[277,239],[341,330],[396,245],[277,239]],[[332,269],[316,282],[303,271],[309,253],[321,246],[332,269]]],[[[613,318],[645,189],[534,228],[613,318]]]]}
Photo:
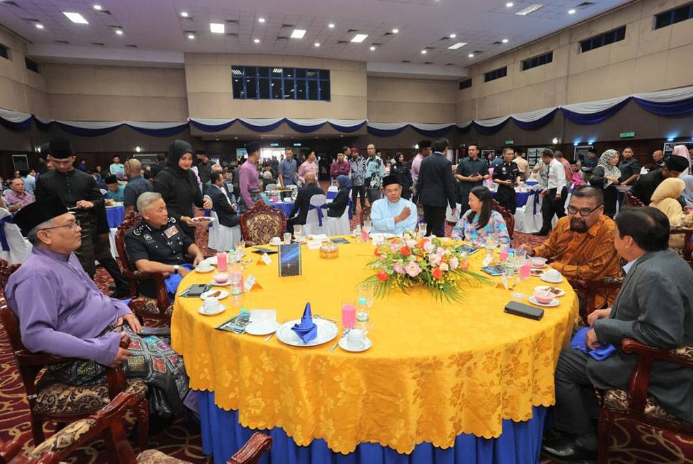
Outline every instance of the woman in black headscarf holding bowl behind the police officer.
{"type": "Polygon", "coordinates": [[[190,168],[193,166],[193,147],[184,140],[175,140],[168,145],[168,166],[154,179],[154,191],[161,193],[166,202],[168,215],[175,217],[188,237],[195,237],[193,204],[211,209],[212,201],[202,197],[198,178],[190,168]]]}

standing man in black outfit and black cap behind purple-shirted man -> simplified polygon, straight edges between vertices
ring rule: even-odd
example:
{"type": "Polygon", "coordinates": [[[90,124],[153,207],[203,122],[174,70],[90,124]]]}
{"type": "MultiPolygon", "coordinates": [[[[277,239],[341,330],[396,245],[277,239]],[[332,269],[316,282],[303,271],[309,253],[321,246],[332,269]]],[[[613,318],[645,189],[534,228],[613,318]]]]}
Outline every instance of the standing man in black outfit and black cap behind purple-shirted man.
{"type": "Polygon", "coordinates": [[[74,168],[75,154],[65,139],[55,139],[49,145],[48,161],[54,170],[42,174],[36,182],[36,199],[57,196],[74,211],[82,227],[82,244],[75,252],[91,278],[96,263],[108,271],[116,284],[113,296],[130,295],[130,286],[111,255],[108,241],[105,202],[94,177],[74,168]]]}

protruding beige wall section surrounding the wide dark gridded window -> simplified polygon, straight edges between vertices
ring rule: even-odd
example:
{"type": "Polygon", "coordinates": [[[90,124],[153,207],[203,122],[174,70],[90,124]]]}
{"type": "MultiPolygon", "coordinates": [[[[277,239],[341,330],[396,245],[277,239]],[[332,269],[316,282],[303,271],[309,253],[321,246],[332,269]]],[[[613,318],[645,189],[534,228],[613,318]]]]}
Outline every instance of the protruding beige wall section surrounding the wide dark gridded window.
{"type": "Polygon", "coordinates": [[[186,53],[190,116],[195,118],[367,117],[365,62],[281,55],[186,53]],[[331,101],[234,100],[231,66],[295,66],[329,69],[331,101]]]}

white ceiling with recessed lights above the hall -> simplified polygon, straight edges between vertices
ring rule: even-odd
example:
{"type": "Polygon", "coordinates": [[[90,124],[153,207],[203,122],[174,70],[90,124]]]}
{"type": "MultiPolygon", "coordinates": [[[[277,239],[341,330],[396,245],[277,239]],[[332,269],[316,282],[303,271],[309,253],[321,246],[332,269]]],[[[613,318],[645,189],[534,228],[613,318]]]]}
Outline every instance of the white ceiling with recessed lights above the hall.
{"type": "Polygon", "coordinates": [[[0,24],[28,40],[29,53],[45,61],[127,58],[146,65],[166,52],[161,60],[176,65],[183,53],[227,52],[464,69],[624,3],[629,1],[0,0],[0,24]]]}

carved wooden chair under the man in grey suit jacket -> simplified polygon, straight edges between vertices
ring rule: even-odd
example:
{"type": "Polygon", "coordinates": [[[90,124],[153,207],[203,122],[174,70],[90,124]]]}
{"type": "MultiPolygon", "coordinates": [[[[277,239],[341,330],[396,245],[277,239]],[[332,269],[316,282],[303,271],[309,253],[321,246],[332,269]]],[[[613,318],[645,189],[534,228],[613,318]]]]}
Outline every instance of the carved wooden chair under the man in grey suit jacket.
{"type": "Polygon", "coordinates": [[[667,350],[625,339],[621,348],[626,354],[637,355],[638,363],[627,391],[611,389],[604,394],[597,463],[690,462],[693,423],[660,407],[655,398],[647,395],[647,384],[655,361],[693,369],[693,347],[667,350]]]}

